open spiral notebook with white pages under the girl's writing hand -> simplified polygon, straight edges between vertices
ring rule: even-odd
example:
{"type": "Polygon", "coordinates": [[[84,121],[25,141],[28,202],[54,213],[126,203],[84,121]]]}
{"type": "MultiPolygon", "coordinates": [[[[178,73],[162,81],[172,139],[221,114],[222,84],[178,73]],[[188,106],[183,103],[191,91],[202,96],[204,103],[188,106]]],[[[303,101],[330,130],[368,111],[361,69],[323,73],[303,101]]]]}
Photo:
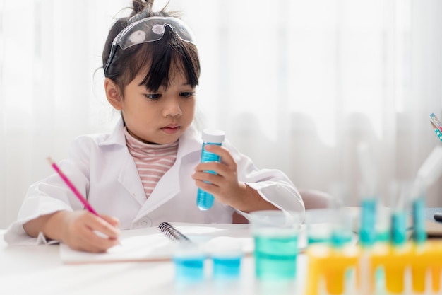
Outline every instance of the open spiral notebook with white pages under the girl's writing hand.
{"type": "Polygon", "coordinates": [[[239,243],[244,253],[253,252],[249,224],[184,224],[167,222],[160,227],[121,231],[121,245],[106,253],[86,253],[60,245],[60,258],[66,264],[170,260],[180,243],[196,243],[209,251],[214,246],[239,243]]]}

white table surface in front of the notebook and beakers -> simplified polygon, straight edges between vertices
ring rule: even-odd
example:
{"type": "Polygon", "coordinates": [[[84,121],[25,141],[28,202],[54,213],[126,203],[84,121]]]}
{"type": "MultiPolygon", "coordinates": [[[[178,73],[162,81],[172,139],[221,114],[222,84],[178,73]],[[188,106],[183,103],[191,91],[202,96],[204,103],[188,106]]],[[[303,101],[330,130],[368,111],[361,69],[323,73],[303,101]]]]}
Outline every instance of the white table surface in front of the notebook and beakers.
{"type": "Polygon", "coordinates": [[[205,280],[178,284],[174,265],[166,262],[117,262],[64,265],[59,245],[8,246],[0,230],[0,294],[302,294],[305,255],[299,255],[294,282],[259,282],[254,277],[254,261],[246,256],[241,276],[235,281],[211,278],[211,262],[206,260],[205,280]]]}

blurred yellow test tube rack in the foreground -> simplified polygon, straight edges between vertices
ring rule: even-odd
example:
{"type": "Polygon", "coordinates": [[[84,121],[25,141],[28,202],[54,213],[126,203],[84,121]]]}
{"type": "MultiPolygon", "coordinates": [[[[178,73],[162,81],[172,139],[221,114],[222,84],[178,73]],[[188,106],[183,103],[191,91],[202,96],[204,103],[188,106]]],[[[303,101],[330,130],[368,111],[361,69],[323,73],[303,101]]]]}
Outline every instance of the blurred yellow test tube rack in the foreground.
{"type": "Polygon", "coordinates": [[[388,243],[371,248],[347,245],[311,245],[308,258],[305,295],[377,295],[377,294],[442,294],[442,241],[422,244],[405,243],[400,247],[388,243]],[[349,270],[354,275],[349,276],[349,270]],[[383,290],[376,280],[383,274],[383,290]],[[353,282],[348,282],[351,279],[353,282]],[[354,286],[349,292],[346,288],[354,286]]]}

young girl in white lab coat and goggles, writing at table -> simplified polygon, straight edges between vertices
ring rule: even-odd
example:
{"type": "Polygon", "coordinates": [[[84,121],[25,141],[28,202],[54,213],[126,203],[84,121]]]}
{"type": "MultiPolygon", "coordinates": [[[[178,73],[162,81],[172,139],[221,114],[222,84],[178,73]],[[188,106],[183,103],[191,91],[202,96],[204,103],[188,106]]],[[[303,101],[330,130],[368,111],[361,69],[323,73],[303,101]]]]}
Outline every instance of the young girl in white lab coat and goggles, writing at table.
{"type": "Polygon", "coordinates": [[[118,243],[120,229],[229,224],[234,214],[263,209],[304,212],[284,173],[256,168],[229,141],[206,147],[220,163],[200,163],[201,133],[192,124],[200,75],[195,40],[179,18],[153,12],[152,4],[133,1],[131,16],[114,23],[104,46],[105,93],[121,120],[110,134],[78,137],[60,163],[100,216],[84,210],[53,174],[28,190],[8,243],[61,241],[102,252],[118,243]],[[215,197],[207,211],[196,205],[198,187],[215,197]]]}

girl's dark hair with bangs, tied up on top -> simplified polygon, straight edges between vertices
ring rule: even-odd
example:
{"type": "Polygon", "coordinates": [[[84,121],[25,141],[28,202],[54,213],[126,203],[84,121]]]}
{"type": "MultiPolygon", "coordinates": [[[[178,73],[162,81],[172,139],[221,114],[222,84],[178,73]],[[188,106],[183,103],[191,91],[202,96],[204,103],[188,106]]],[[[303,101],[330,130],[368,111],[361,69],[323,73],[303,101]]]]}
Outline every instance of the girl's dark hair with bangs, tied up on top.
{"type": "MultiPolygon", "coordinates": [[[[112,41],[127,25],[150,16],[179,17],[177,13],[166,12],[166,7],[158,12],[152,11],[153,0],[134,0],[132,4],[131,15],[117,19],[107,35],[102,54],[103,68],[109,59],[112,41]]],[[[169,26],[166,26],[165,35],[161,40],[142,43],[126,50],[117,47],[114,59],[104,76],[112,79],[120,91],[123,91],[124,86],[129,84],[140,71],[148,70],[141,85],[144,84],[148,89],[157,91],[160,86],[166,88],[169,86],[171,68],[181,71],[192,87],[198,85],[200,62],[196,46],[181,40],[169,26]]]]}

